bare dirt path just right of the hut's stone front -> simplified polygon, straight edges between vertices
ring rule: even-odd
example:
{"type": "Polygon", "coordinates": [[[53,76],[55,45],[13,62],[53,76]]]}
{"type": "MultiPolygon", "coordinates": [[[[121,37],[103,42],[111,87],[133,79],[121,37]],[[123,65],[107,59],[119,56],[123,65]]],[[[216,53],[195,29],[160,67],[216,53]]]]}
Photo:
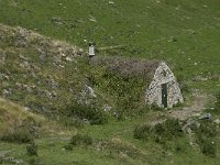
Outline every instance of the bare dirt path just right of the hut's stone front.
{"type": "Polygon", "coordinates": [[[196,92],[194,95],[194,103],[190,107],[184,107],[183,109],[174,110],[169,113],[169,116],[173,118],[185,120],[191,116],[196,116],[197,113],[202,112],[202,110],[206,108],[205,106],[209,100],[209,96],[196,92]]]}

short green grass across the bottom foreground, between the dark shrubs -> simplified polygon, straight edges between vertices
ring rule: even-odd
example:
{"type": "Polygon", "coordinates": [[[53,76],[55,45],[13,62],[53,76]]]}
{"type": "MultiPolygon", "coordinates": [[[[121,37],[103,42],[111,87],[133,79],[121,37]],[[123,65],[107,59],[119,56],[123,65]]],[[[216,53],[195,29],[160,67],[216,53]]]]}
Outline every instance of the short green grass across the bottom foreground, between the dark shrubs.
{"type": "MultiPolygon", "coordinates": [[[[155,113],[125,121],[111,121],[106,125],[85,127],[79,131],[92,136],[92,145],[77,145],[72,151],[63,150],[70,136],[40,138],[35,140],[37,154],[43,164],[218,164],[216,158],[205,156],[189,145],[187,136],[178,138],[161,145],[154,141],[133,139],[135,125],[152,119],[155,113]],[[178,148],[177,148],[178,146],[178,148]]],[[[29,162],[33,156],[26,154],[25,144],[0,143],[0,151],[10,151],[9,157],[29,162]]]]}

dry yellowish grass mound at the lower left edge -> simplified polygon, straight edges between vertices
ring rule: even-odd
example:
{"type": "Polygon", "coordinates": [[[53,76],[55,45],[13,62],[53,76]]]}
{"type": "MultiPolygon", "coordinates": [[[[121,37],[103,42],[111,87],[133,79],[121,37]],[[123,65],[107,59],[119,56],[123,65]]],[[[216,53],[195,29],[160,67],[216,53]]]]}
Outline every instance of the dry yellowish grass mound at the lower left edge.
{"type": "Polygon", "coordinates": [[[0,140],[28,143],[37,135],[42,119],[11,101],[0,99],[0,140]]]}

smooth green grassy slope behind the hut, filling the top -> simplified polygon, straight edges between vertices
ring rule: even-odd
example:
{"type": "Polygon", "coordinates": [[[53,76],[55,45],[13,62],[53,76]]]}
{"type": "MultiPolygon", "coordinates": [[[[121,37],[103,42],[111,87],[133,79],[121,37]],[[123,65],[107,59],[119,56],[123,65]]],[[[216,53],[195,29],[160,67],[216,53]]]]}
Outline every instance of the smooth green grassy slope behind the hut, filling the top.
{"type": "Polygon", "coordinates": [[[219,85],[218,0],[116,0],[113,4],[105,0],[1,0],[0,9],[0,22],[6,24],[35,30],[84,48],[89,41],[98,47],[128,45],[125,50],[100,54],[165,59],[191,87],[215,92],[219,85]],[[97,22],[89,21],[92,18],[97,22]],[[189,79],[196,76],[208,80],[191,82],[189,79]]]}

